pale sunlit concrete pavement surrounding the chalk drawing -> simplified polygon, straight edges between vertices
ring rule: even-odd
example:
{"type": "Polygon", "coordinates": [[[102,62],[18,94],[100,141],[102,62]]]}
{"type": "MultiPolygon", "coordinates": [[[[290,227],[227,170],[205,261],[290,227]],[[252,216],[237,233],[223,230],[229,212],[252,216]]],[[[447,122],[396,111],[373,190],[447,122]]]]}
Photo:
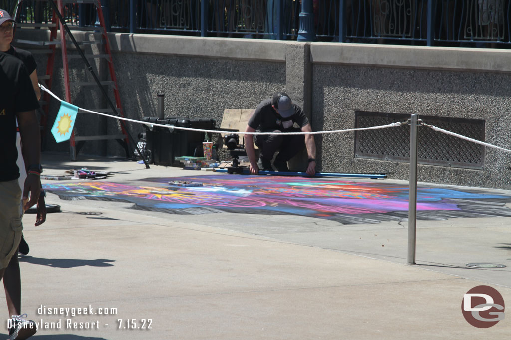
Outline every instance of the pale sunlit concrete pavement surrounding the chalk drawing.
{"type": "MultiPolygon", "coordinates": [[[[108,181],[125,184],[191,175],[130,161],[68,159],[43,154],[44,174],[86,166],[111,171],[108,181]]],[[[477,285],[490,285],[511,302],[509,218],[418,221],[417,265],[407,265],[407,225],[399,221],[342,225],[288,215],[178,215],[54,194],[47,202],[60,204],[62,212],[49,214],[39,227],[33,226],[35,215],[24,218],[31,252],[21,259],[22,311],[48,326],[34,339],[511,334],[509,313],[490,328],[470,325],[461,313],[463,294],[477,285]],[[508,267],[465,266],[476,262],[508,267]],[[93,314],[79,315],[79,307],[93,314]],[[60,311],[55,308],[63,313],[50,314],[60,311]]],[[[7,317],[6,305],[0,308],[7,317]]]]}

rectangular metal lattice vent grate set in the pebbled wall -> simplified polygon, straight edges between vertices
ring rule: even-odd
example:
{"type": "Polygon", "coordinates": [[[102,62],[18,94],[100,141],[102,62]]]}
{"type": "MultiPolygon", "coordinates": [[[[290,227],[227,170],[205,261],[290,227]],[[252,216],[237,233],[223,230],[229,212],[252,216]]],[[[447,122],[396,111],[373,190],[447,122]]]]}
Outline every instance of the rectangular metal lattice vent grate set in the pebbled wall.
{"type": "MultiPolygon", "coordinates": [[[[355,126],[371,127],[403,122],[409,115],[355,111],[355,126]]],[[[484,141],[484,120],[419,116],[425,123],[456,134],[484,141]]],[[[419,127],[418,162],[446,167],[482,169],[484,147],[453,136],[419,127]]],[[[383,161],[408,162],[410,126],[358,131],[355,134],[355,157],[383,161]]]]}

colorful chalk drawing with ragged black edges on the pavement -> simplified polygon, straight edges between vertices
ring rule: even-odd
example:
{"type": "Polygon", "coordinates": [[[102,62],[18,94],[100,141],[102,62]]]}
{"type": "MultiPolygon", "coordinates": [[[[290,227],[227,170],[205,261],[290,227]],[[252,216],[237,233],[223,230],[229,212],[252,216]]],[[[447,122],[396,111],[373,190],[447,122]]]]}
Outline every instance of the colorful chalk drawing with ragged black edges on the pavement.
{"type": "MultiPolygon", "coordinates": [[[[148,186],[103,181],[46,184],[61,199],[134,203],[136,209],[173,214],[215,212],[301,215],[344,224],[379,223],[408,217],[408,186],[288,176],[203,175],[145,178],[148,186]],[[171,180],[202,187],[169,186],[171,180]]],[[[511,216],[511,196],[451,187],[417,188],[417,219],[511,216]]]]}

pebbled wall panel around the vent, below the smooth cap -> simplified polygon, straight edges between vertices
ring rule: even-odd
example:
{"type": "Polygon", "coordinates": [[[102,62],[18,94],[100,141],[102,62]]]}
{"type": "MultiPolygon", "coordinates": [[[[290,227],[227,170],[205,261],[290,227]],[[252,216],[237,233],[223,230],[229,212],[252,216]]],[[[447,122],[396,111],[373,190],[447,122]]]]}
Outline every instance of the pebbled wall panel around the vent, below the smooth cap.
{"type": "MultiPolygon", "coordinates": [[[[485,141],[511,148],[510,74],[319,64],[314,65],[313,82],[315,130],[353,128],[356,110],[484,119],[485,141]]],[[[392,172],[392,178],[408,178],[408,163],[354,158],[353,132],[323,135],[318,143],[323,171],[392,172]]],[[[486,148],[484,162],[483,170],[419,165],[418,178],[509,188],[509,153],[486,148]]]]}

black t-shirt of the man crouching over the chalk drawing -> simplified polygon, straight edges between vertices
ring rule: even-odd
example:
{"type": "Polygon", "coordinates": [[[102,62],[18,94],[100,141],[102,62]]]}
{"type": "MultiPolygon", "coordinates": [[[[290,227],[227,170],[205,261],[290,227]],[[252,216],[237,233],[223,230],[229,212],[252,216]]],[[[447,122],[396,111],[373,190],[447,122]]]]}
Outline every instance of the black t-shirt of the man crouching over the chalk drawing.
{"type": "Polygon", "coordinates": [[[294,115],[289,118],[281,118],[277,115],[271,106],[271,98],[261,101],[254,114],[248,120],[248,126],[257,131],[281,130],[286,132],[293,128],[293,124],[304,127],[309,124],[309,119],[305,116],[304,110],[293,103],[294,115]]]}

